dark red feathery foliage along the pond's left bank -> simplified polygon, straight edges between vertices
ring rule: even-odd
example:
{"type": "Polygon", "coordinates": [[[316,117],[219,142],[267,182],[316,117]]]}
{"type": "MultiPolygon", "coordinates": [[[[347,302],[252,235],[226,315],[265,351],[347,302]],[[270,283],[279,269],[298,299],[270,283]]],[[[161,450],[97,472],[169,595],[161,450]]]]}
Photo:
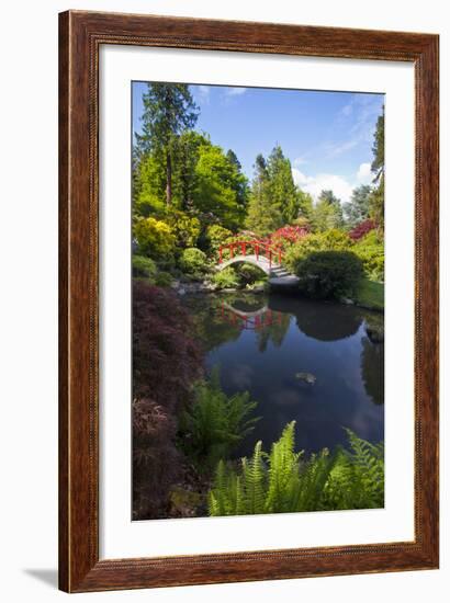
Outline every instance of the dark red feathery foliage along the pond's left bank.
{"type": "Polygon", "coordinates": [[[177,295],[133,283],[133,516],[167,516],[181,470],[177,414],[202,374],[202,353],[177,295]]]}

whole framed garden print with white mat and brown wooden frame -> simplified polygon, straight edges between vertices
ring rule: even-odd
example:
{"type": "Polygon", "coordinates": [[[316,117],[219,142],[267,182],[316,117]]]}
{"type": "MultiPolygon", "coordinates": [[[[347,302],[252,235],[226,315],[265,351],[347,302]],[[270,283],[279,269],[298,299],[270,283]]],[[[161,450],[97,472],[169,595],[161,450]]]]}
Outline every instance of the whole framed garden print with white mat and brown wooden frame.
{"type": "Polygon", "coordinates": [[[438,36],[59,16],[68,592],[438,567],[438,36]]]}

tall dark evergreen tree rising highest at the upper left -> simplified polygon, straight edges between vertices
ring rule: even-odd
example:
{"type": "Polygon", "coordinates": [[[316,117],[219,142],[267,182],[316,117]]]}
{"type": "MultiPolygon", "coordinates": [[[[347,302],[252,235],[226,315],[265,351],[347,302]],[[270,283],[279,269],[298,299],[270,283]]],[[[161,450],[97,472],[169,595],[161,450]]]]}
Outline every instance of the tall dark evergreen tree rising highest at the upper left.
{"type": "Polygon", "coordinates": [[[149,83],[143,102],[143,133],[136,135],[137,149],[140,153],[162,155],[166,203],[169,206],[172,202],[172,163],[177,141],[182,132],[195,125],[198,106],[189,87],[183,83],[149,83]]]}

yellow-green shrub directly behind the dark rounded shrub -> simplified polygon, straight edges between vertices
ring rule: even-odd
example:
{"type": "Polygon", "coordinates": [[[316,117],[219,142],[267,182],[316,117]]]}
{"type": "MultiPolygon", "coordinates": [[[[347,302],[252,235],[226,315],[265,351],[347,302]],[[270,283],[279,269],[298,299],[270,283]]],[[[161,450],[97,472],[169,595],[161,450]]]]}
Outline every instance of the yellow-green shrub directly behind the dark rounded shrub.
{"type": "Polygon", "coordinates": [[[283,263],[291,272],[296,272],[299,264],[314,251],[348,251],[351,248],[352,241],[347,232],[333,228],[301,238],[286,250],[283,263]]]}

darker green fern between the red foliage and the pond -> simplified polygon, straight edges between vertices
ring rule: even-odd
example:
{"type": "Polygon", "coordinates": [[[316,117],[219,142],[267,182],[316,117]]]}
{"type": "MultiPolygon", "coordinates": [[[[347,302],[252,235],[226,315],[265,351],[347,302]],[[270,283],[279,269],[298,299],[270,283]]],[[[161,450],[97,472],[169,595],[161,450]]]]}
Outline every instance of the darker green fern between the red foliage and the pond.
{"type": "Polygon", "coordinates": [[[201,473],[211,471],[254,430],[259,420],[251,417],[256,406],[248,391],[227,397],[217,368],[210,380],[194,386],[194,401],[181,416],[180,433],[185,454],[201,473]]]}

